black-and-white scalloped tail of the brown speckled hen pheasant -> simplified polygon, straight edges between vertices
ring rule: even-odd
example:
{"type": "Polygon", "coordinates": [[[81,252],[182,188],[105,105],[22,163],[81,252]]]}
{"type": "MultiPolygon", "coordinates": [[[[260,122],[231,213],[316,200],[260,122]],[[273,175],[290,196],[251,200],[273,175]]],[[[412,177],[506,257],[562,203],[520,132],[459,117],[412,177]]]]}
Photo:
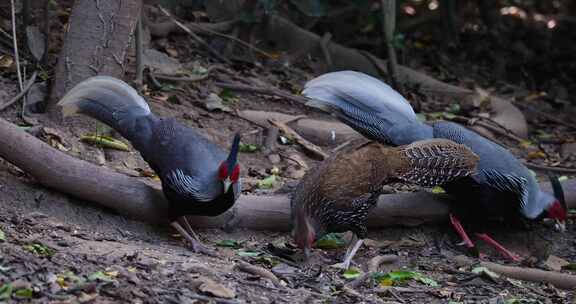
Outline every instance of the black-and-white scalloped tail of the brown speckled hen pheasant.
{"type": "Polygon", "coordinates": [[[465,145],[429,139],[401,146],[397,178],[424,187],[442,185],[476,171],[480,158],[465,145]]]}

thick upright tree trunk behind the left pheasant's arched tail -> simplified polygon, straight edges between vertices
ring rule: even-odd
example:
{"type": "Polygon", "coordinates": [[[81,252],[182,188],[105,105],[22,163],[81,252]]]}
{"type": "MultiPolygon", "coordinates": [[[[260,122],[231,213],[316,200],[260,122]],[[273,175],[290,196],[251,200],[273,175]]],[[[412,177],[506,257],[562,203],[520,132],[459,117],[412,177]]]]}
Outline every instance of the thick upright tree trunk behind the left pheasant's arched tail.
{"type": "Polygon", "coordinates": [[[56,66],[49,111],[68,90],[86,78],[95,75],[123,78],[141,7],[141,0],[76,1],[56,66]]]}

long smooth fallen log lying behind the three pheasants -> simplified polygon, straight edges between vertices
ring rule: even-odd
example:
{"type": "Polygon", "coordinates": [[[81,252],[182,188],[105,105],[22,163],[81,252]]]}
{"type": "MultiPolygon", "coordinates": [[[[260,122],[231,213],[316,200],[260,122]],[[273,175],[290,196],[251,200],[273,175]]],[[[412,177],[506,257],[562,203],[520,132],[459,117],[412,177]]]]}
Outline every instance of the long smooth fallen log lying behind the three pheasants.
{"type": "MultiPolygon", "coordinates": [[[[168,204],[158,188],[54,149],[4,119],[0,119],[0,157],[47,188],[138,220],[151,223],[168,220],[168,204]]],[[[576,207],[576,180],[569,180],[563,186],[567,203],[576,207]]],[[[548,183],[544,183],[544,187],[551,188],[548,183]]],[[[368,226],[414,226],[442,221],[448,214],[445,202],[443,195],[428,192],[382,195],[368,219],[368,226]]],[[[244,195],[231,211],[221,216],[190,219],[196,227],[286,231],[290,227],[289,206],[286,195],[244,195]]]]}

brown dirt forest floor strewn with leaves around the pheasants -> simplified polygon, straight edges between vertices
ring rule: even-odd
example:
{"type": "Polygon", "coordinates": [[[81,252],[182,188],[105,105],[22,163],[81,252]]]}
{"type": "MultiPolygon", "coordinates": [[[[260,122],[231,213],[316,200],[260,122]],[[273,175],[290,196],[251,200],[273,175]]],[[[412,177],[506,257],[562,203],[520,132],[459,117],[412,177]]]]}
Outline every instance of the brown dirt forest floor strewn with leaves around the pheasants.
{"type": "MultiPolygon", "coordinates": [[[[187,41],[187,40],[184,40],[187,41]]],[[[182,62],[206,69],[215,66],[195,54],[190,46],[171,39],[156,41],[154,46],[182,62]],[[192,59],[190,59],[192,58],[192,59]]],[[[454,65],[465,70],[466,63],[454,65]]],[[[421,66],[420,66],[421,67],[421,66]]],[[[214,80],[233,80],[273,86],[297,93],[306,80],[315,76],[306,69],[252,67],[245,64],[222,66],[206,80],[166,85],[163,90],[149,90],[148,101],[159,116],[174,116],[200,129],[222,146],[234,132],[250,133],[245,143],[260,144],[258,126],[239,118],[234,112],[209,111],[203,100],[214,92],[225,106],[237,110],[275,111],[329,117],[310,112],[304,106],[278,97],[223,91],[214,80]]],[[[437,75],[436,75],[437,76],[437,75]]],[[[478,82],[485,79],[474,78],[478,82]]],[[[131,76],[127,79],[131,79],[131,76]]],[[[0,99],[15,94],[17,82],[12,74],[0,75],[0,99]]],[[[541,103],[542,104],[542,103],[541,103]]],[[[438,113],[450,105],[438,101],[422,104],[422,111],[438,113]]],[[[548,105],[542,106],[548,111],[548,105]]],[[[0,116],[19,123],[17,107],[0,116]]],[[[569,115],[569,113],[566,113],[569,115]]],[[[551,134],[554,138],[573,136],[563,127],[527,116],[531,135],[551,134]]],[[[82,159],[138,176],[147,169],[136,152],[104,150],[88,146],[79,137],[95,132],[93,124],[51,126],[46,129],[61,149],[82,159]]],[[[99,129],[98,129],[99,130],[99,129]]],[[[333,147],[329,147],[333,148],[333,147]]],[[[326,151],[329,151],[326,148],[326,151]]],[[[514,145],[520,157],[527,152],[514,145]]],[[[548,145],[548,150],[559,146],[548,145]]],[[[285,191],[297,182],[293,163],[285,155],[298,154],[309,167],[315,163],[296,145],[278,145],[274,156],[262,151],[243,153],[243,178],[246,192],[252,194],[285,191]],[[282,172],[272,189],[259,189],[257,182],[273,167],[282,172]],[[284,187],[285,186],[285,187],[284,187]]],[[[554,153],[557,154],[557,153],[554,153]]],[[[564,161],[568,161],[564,159],[564,161]]],[[[153,178],[135,177],[149,182],[153,178]]],[[[110,210],[70,198],[36,184],[30,176],[0,159],[0,302],[31,303],[574,303],[575,294],[553,286],[474,274],[470,267],[458,265],[453,257],[464,254],[448,224],[413,228],[394,227],[370,231],[369,241],[354,260],[354,267],[366,271],[368,261],[380,254],[395,254],[399,259],[383,265],[382,273],[405,271],[411,279],[367,282],[347,290],[345,284],[356,273],[344,274],[330,265],[338,262],[344,247],[316,250],[314,263],[301,265],[272,249],[291,249],[288,232],[199,229],[201,238],[218,249],[219,258],[192,253],[185,242],[164,226],[153,226],[127,219],[110,210]],[[245,261],[270,269],[282,283],[275,284],[261,276],[235,267],[245,261]],[[418,273],[419,275],[415,275],[418,273]],[[384,285],[393,284],[392,288],[384,285]],[[11,297],[11,298],[10,298],[11,297]]],[[[544,231],[546,233],[546,231],[544,231]]],[[[554,234],[551,255],[576,262],[576,229],[568,226],[563,234],[554,234]]],[[[526,233],[499,231],[497,239],[516,252],[528,256],[531,248],[524,242],[526,233]]],[[[511,264],[479,244],[487,260],[511,264]]],[[[544,269],[557,263],[538,264],[544,269]]],[[[568,272],[568,270],[562,270],[568,272]]]]}

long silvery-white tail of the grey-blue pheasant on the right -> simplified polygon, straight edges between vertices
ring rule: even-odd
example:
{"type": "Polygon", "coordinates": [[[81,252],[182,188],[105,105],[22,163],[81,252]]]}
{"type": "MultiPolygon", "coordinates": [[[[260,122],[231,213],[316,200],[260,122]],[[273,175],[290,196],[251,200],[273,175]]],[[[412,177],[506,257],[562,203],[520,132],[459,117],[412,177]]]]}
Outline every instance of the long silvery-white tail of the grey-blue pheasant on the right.
{"type": "Polygon", "coordinates": [[[307,105],[332,113],[364,136],[395,145],[432,138],[410,103],[380,80],[353,71],[324,74],[306,83],[307,105]]]}

